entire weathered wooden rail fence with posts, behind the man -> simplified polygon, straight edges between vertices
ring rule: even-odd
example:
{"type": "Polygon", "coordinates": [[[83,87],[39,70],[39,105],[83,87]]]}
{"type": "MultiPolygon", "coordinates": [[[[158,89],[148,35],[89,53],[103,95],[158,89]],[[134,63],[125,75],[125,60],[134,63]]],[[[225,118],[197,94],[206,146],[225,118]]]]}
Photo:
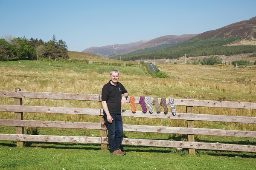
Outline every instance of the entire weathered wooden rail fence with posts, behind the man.
{"type": "MultiPolygon", "coordinates": [[[[24,106],[22,99],[60,99],[60,100],[81,100],[101,102],[99,94],[68,94],[68,93],[47,93],[47,92],[28,92],[15,88],[15,91],[0,91],[0,97],[14,98],[14,105],[0,105],[0,111],[15,112],[15,119],[0,119],[0,126],[16,127],[16,134],[0,134],[0,140],[17,141],[17,146],[23,147],[24,142],[71,142],[71,143],[93,143],[101,144],[102,149],[107,149],[108,137],[107,130],[102,118],[102,108],[67,108],[67,107],[49,107],[49,106],[24,106]],[[39,120],[23,120],[23,113],[62,113],[77,115],[97,115],[99,123],[93,122],[57,122],[57,121],[39,121],[39,120]],[[80,128],[80,129],[98,129],[101,132],[100,137],[92,136],[50,136],[50,135],[26,135],[24,127],[50,127],[50,128],[80,128]]],[[[160,103],[159,98],[159,103],[160,103]]],[[[135,103],[139,103],[140,97],[135,97],[135,103]]],[[[153,98],[151,98],[151,102],[153,98]]],[[[129,97],[127,99],[129,102],[129,97]]],[[[166,99],[168,104],[169,99],[166,99]]],[[[227,101],[209,101],[194,99],[174,99],[176,106],[186,106],[186,113],[177,113],[173,116],[171,112],[168,114],[156,113],[144,114],[142,111],[132,113],[131,111],[122,111],[122,116],[140,117],[152,119],[179,119],[186,120],[187,127],[166,127],[166,126],[148,126],[148,125],[123,125],[124,131],[134,132],[152,132],[152,133],[176,133],[188,135],[188,141],[169,141],[169,140],[153,140],[153,139],[129,139],[124,138],[124,145],[140,145],[152,147],[176,147],[188,148],[189,154],[194,154],[195,149],[204,150],[227,150],[241,152],[256,152],[254,145],[242,144],[222,144],[195,142],[194,135],[212,135],[212,136],[232,136],[244,138],[256,138],[255,131],[244,130],[224,130],[224,129],[206,129],[195,128],[194,121],[213,121],[213,122],[235,122],[256,124],[256,117],[248,116],[225,116],[210,114],[195,114],[193,107],[213,107],[213,108],[237,108],[237,109],[256,109],[256,103],[251,102],[227,102],[227,101]]],[[[1,113],[0,112],[0,113],[1,113]]]]}

